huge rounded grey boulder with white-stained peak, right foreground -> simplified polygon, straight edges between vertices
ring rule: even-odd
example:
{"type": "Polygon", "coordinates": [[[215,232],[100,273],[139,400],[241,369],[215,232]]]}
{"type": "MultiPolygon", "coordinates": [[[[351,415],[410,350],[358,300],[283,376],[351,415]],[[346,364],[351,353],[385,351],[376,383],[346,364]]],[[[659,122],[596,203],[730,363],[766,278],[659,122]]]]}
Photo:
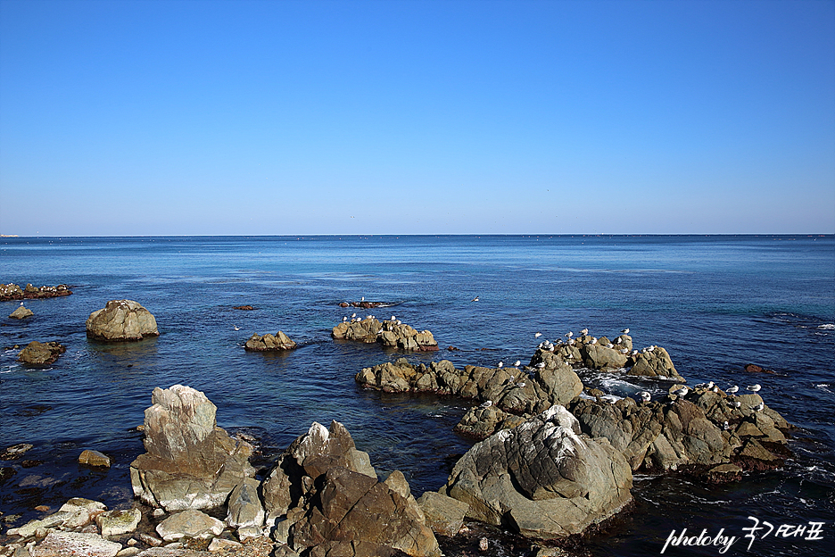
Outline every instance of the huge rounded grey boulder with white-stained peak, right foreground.
{"type": "Polygon", "coordinates": [[[606,439],[580,433],[555,405],[474,445],[441,493],[469,505],[467,517],[554,539],[605,520],[632,496],[632,470],[606,439]]]}

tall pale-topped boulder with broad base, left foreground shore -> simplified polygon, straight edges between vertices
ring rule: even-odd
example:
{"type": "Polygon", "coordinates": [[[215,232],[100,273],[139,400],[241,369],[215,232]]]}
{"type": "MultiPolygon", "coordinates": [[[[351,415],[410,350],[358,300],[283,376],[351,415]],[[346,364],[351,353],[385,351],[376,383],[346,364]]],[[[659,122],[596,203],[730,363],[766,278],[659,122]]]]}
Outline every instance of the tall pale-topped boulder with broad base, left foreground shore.
{"type": "Polygon", "coordinates": [[[217,407],[191,387],[153,389],[145,410],[145,450],[130,465],[134,495],[166,511],[226,503],[255,470],[252,445],[217,427],[217,407]]]}

